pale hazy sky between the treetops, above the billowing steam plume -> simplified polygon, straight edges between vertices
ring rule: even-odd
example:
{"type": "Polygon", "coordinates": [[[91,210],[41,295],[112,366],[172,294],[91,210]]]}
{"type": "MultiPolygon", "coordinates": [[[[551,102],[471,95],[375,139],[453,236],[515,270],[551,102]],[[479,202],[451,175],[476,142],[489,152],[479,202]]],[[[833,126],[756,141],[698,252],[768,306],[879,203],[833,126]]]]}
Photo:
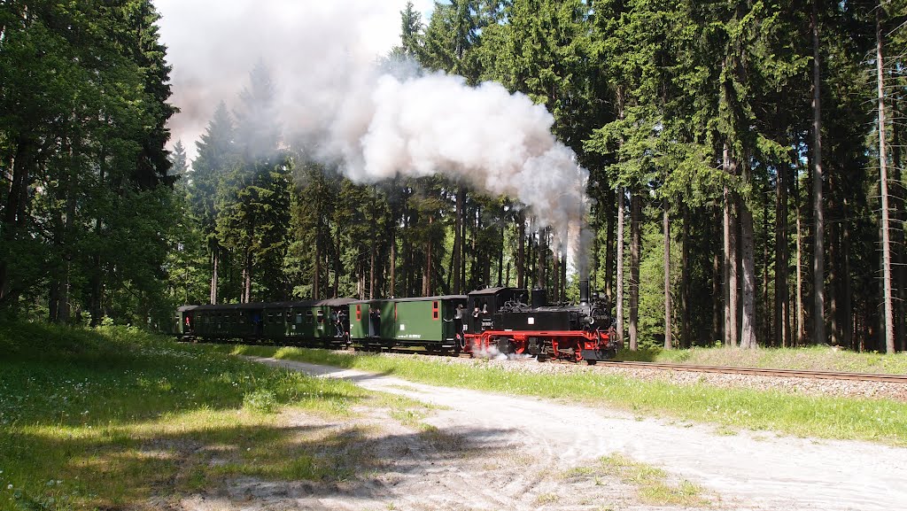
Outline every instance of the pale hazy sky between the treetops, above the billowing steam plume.
{"type": "MultiPolygon", "coordinates": [[[[434,0],[414,0],[426,21],[434,0]]],[[[228,106],[265,61],[285,89],[326,53],[374,60],[399,44],[406,0],[154,0],[172,65],[171,144],[194,157],[220,101],[228,106]]]]}

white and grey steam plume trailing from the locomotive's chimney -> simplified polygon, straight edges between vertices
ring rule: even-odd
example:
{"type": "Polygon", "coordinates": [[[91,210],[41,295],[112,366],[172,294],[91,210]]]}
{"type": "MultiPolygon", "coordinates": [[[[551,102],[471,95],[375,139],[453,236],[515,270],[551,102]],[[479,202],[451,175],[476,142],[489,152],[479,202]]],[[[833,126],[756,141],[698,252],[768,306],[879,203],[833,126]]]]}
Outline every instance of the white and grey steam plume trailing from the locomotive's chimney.
{"type": "Polygon", "coordinates": [[[405,1],[396,4],[157,0],[183,111],[171,123],[174,139],[194,152],[217,103],[236,98],[263,60],[285,140],[315,148],[356,182],[441,173],[521,201],[568,242],[583,274],[589,173],[551,134],[551,113],[500,84],[380,71],[376,57],[398,40],[405,1]]]}

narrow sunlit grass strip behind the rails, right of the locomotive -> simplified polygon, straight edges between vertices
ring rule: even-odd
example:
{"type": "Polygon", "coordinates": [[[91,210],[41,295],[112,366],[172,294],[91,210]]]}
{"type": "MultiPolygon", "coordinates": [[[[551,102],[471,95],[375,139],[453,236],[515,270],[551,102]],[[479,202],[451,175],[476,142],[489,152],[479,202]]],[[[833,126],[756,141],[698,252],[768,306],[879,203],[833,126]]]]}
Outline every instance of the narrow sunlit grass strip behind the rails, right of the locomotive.
{"type": "Polygon", "coordinates": [[[855,353],[844,349],[813,346],[808,348],[693,348],[623,349],[621,360],[680,363],[695,366],[732,368],[808,369],[879,374],[907,374],[907,352],[855,353]]]}

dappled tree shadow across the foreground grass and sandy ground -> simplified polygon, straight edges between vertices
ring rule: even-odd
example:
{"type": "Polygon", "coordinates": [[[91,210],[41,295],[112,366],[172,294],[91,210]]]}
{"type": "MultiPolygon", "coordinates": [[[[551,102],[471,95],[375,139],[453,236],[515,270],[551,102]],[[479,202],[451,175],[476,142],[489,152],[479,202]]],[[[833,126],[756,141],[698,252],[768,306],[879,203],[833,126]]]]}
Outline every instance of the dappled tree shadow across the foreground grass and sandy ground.
{"type": "MultiPolygon", "coordinates": [[[[239,487],[237,480],[251,496],[258,491],[271,495],[278,484],[288,495],[368,497],[381,491],[375,481],[387,473],[419,473],[453,459],[493,457],[511,436],[508,429],[482,428],[387,433],[367,424],[327,420],[288,427],[224,424],[148,435],[110,428],[68,438],[35,430],[10,439],[21,456],[66,453],[51,477],[65,481],[71,506],[118,509],[151,506],[150,496],[222,494],[227,487],[239,487]]],[[[52,495],[63,503],[62,486],[25,492],[20,503],[42,503],[52,495]]]]}

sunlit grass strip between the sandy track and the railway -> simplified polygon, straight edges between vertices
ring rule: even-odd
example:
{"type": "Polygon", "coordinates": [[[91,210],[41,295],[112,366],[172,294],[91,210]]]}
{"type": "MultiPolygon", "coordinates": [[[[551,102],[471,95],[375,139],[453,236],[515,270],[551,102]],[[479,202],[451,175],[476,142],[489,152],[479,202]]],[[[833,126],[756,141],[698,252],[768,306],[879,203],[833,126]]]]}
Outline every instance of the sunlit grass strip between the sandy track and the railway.
{"type": "Polygon", "coordinates": [[[541,398],[569,398],[607,404],[636,415],[665,415],[735,429],[769,430],[798,437],[851,438],[907,446],[907,403],[886,399],[833,398],[678,385],[578,370],[530,374],[490,366],[452,363],[443,358],[393,358],[322,349],[224,346],[243,355],[294,359],[341,368],[393,374],[414,381],[541,398]]]}

